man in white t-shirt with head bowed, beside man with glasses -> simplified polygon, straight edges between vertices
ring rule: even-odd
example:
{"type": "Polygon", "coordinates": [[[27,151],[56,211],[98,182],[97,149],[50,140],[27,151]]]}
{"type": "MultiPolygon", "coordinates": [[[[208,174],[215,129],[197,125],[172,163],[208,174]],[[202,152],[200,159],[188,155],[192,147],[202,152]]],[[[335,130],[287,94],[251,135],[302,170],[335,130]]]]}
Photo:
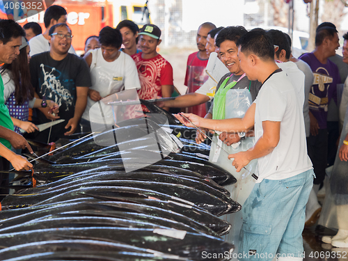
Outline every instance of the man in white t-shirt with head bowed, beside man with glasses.
{"type": "Polygon", "coordinates": [[[99,49],[90,50],[84,56],[90,68],[92,86],[88,90],[87,106],[81,119],[82,132],[91,132],[90,122],[101,126],[116,123],[111,106],[100,102],[104,118],[100,117],[99,109],[91,109],[96,102],[122,90],[141,88],[138,70],[132,57],[120,52],[120,30],[104,27],[99,33],[99,42],[99,49]]]}

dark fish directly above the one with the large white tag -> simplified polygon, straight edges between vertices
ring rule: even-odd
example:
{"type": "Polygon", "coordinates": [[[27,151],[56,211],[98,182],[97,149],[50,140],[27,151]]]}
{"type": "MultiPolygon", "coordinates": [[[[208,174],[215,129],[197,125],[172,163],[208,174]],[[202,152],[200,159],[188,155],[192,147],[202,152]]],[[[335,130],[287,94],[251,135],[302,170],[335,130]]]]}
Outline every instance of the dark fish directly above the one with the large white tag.
{"type": "MultiPolygon", "coordinates": [[[[117,198],[115,198],[115,200],[117,200],[117,198]]],[[[229,226],[227,226],[226,228],[226,222],[220,222],[219,219],[216,218],[216,216],[214,217],[209,216],[209,214],[206,214],[205,212],[202,212],[199,209],[194,209],[194,208],[183,209],[184,208],[183,205],[175,205],[174,203],[165,203],[165,205],[171,206],[171,209],[175,209],[177,210],[177,212],[171,211],[170,209],[162,209],[160,208],[161,206],[157,207],[156,205],[150,206],[150,205],[142,205],[141,203],[129,203],[129,202],[122,202],[122,201],[68,203],[61,206],[53,205],[52,207],[45,207],[42,209],[35,210],[33,212],[19,214],[18,216],[13,216],[11,218],[2,220],[0,222],[0,228],[1,230],[5,230],[6,228],[9,228],[11,226],[17,226],[18,224],[21,224],[21,223],[30,222],[33,219],[40,219],[43,216],[46,216],[47,214],[55,215],[55,214],[61,214],[63,212],[71,212],[71,211],[84,214],[86,212],[90,213],[92,211],[99,211],[100,214],[102,215],[102,213],[107,214],[107,212],[109,211],[109,212],[113,212],[112,213],[113,216],[122,216],[123,214],[123,216],[129,216],[129,218],[132,217],[133,212],[137,214],[145,214],[148,216],[161,217],[163,219],[169,219],[172,221],[176,221],[178,223],[186,224],[187,226],[190,226],[193,230],[202,232],[207,235],[222,235],[222,229],[224,230],[230,229],[229,226]],[[127,215],[127,213],[129,212],[131,214],[127,215]],[[183,214],[180,214],[180,212],[182,212],[183,214]],[[205,223],[202,224],[199,221],[191,219],[190,217],[184,214],[193,216],[193,218],[199,221],[203,221],[207,223],[208,225],[219,224],[223,226],[219,228],[212,227],[215,230],[217,230],[215,232],[215,230],[212,230],[208,226],[205,226],[205,223]]]]}

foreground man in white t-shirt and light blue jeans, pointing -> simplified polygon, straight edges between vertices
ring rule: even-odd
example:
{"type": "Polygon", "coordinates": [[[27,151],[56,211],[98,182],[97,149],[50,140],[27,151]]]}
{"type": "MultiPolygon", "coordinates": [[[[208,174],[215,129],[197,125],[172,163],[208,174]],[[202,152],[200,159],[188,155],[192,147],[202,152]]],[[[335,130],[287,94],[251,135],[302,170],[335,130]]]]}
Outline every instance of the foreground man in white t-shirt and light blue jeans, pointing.
{"type": "Polygon", "coordinates": [[[255,128],[253,148],[228,156],[237,171],[258,159],[258,175],[253,175],[257,183],[242,209],[238,260],[302,260],[305,207],[314,177],[302,106],[290,79],[274,61],[274,45],[266,31],[252,30],[238,45],[242,70],[248,79],[262,83],[244,118],[209,120],[184,115],[198,127],[219,131],[255,128]]]}

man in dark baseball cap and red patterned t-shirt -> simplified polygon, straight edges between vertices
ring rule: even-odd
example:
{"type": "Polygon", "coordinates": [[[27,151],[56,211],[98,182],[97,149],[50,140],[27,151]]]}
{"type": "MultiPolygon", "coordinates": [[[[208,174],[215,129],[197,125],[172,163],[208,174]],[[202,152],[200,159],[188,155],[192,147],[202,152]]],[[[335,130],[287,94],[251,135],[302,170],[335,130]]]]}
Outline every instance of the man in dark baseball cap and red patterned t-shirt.
{"type": "MultiPolygon", "coordinates": [[[[139,32],[142,52],[132,56],[141,84],[138,95],[143,100],[171,97],[173,93],[173,68],[156,51],[157,46],[161,43],[160,37],[161,30],[155,24],[145,24],[139,32]]],[[[145,107],[143,109],[147,111],[145,107]]]]}

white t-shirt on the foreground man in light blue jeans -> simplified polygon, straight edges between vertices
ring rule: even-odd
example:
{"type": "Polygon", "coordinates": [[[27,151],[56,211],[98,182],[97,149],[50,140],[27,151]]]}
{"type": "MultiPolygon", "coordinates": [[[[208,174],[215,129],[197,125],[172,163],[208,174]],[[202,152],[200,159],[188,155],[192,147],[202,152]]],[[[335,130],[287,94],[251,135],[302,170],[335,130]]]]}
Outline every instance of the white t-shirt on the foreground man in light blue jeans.
{"type": "Polygon", "coordinates": [[[283,180],[312,167],[307,155],[302,108],[296,90],[285,72],[274,73],[264,82],[255,100],[255,140],[263,134],[263,121],[280,121],[280,139],[274,150],[258,159],[258,183],[283,180]]]}

